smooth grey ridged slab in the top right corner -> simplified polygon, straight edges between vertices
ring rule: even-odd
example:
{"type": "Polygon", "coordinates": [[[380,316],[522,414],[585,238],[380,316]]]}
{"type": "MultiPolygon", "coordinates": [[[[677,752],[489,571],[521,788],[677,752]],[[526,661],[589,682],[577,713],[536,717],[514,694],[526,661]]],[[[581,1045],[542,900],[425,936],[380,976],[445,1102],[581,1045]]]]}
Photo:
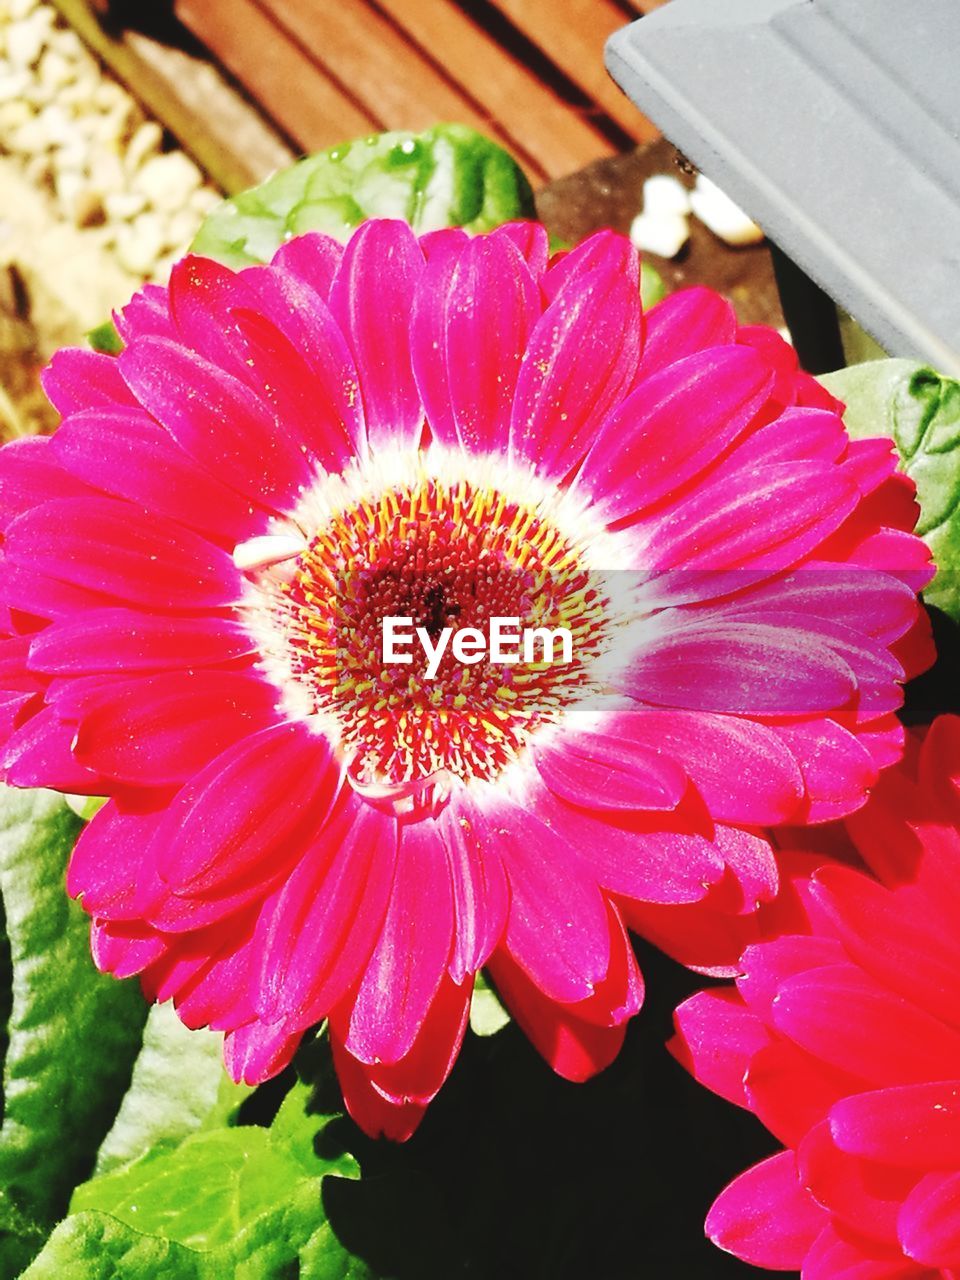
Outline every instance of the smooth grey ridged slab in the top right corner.
{"type": "Polygon", "coordinates": [[[960,0],[671,0],[607,65],[891,355],[960,375],[960,0]]]}

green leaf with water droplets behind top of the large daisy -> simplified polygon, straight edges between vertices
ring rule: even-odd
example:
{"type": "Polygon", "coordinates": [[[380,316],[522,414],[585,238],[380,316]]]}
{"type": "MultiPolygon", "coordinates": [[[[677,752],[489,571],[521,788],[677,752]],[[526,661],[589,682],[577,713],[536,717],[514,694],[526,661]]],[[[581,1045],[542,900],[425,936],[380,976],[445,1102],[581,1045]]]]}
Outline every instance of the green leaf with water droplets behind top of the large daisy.
{"type": "Polygon", "coordinates": [[[228,266],[265,262],[291,236],[348,239],[367,218],[402,218],[417,232],[485,232],[534,215],[530,183],[489,138],[463,124],[379,133],[308,156],[224,201],[193,250],[228,266]]]}

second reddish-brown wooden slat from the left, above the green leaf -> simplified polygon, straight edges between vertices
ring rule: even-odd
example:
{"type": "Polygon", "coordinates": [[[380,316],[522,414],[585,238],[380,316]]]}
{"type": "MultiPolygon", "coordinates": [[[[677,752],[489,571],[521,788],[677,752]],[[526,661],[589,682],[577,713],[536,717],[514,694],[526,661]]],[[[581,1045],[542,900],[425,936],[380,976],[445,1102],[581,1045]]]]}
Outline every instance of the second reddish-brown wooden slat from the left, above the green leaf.
{"type": "Polygon", "coordinates": [[[454,120],[490,132],[477,110],[366,0],[259,0],[287,35],[388,128],[426,129],[454,120]]]}

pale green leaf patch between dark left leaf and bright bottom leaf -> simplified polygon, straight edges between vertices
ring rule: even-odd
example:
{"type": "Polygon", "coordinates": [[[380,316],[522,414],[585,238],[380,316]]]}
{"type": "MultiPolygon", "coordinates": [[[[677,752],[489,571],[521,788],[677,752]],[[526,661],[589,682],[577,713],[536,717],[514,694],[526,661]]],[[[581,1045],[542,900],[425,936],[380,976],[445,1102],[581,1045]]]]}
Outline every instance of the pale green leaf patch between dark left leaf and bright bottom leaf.
{"type": "Polygon", "coordinates": [[[106,1174],[155,1147],[174,1147],[201,1128],[227,1124],[252,1091],[223,1068],[223,1036],[188,1030],[172,1005],[155,1005],[143,1048],[113,1129],[97,1153],[106,1174]]]}

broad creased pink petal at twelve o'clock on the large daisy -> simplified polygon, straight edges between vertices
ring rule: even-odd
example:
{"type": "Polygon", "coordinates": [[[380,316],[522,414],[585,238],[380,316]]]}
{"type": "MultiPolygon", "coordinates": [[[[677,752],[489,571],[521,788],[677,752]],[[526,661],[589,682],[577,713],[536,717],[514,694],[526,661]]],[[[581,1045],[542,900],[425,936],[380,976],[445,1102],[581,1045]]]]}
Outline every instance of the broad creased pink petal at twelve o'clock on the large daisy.
{"type": "Polygon", "coordinates": [[[413,371],[433,435],[486,453],[506,449],[520,362],[540,298],[508,237],[484,236],[435,257],[417,285],[413,371]]]}

